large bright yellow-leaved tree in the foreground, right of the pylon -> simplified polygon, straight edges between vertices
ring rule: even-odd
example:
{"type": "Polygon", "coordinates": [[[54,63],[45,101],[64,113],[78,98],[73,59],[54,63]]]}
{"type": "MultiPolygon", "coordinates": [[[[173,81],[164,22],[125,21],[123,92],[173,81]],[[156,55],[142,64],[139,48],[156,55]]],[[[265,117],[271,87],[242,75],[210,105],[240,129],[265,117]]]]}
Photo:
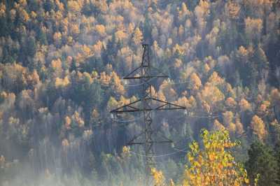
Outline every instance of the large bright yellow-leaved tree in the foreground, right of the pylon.
{"type": "Polygon", "coordinates": [[[204,129],[201,137],[203,149],[197,142],[190,145],[183,185],[248,185],[246,170],[230,153],[238,143],[230,141],[229,132],[204,129]]]}

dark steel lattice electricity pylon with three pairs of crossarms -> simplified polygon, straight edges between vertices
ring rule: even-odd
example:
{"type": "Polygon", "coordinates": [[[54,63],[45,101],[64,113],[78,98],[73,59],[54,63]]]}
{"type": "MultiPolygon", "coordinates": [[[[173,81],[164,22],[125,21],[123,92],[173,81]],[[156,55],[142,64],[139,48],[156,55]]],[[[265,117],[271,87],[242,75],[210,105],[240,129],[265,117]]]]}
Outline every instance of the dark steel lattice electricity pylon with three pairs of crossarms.
{"type": "Polygon", "coordinates": [[[167,75],[162,73],[159,69],[151,66],[150,62],[150,47],[148,44],[143,44],[144,52],[142,55],[141,65],[129,73],[125,78],[127,80],[139,79],[141,80],[142,90],[141,90],[141,99],[128,103],[127,105],[120,106],[114,110],[111,110],[111,113],[133,113],[133,112],[143,112],[144,116],[144,130],[141,131],[138,135],[134,136],[127,145],[144,145],[145,157],[146,157],[146,185],[148,185],[148,177],[150,175],[151,168],[154,166],[154,150],[153,145],[155,143],[172,143],[169,138],[163,136],[165,140],[156,141],[155,135],[158,133],[158,130],[153,129],[153,110],[176,110],[186,108],[183,106],[176,105],[174,103],[169,103],[157,99],[152,95],[152,85],[151,80],[154,78],[168,78],[167,75]],[[144,136],[144,140],[137,141],[140,136],[144,136]]]}

